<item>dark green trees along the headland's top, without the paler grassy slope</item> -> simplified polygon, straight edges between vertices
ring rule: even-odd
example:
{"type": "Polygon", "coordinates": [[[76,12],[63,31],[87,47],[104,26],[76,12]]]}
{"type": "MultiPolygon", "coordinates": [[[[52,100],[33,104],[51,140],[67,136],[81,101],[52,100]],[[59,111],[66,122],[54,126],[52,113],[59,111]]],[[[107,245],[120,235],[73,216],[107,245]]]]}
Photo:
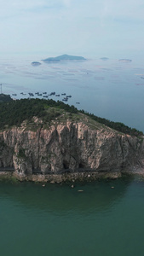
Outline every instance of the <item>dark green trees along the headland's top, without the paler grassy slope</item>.
{"type": "Polygon", "coordinates": [[[64,109],[68,113],[84,113],[91,119],[107,125],[108,127],[130,134],[131,136],[142,136],[143,133],[120,122],[112,122],[108,119],[95,116],[93,113],[78,111],[74,106],[69,106],[64,102],[45,99],[20,99],[17,101],[0,102],[0,129],[9,128],[12,125],[20,125],[24,120],[31,121],[33,116],[50,121],[55,119],[60,112],[48,111],[49,108],[64,109]]]}

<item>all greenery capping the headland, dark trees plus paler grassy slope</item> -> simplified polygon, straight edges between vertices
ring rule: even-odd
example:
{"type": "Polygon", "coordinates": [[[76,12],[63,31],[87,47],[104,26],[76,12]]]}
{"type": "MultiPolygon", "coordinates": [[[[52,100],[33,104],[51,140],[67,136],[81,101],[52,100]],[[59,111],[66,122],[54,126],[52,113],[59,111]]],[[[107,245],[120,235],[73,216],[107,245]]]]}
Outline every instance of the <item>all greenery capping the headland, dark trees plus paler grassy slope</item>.
{"type": "MultiPolygon", "coordinates": [[[[11,102],[0,102],[0,129],[9,129],[13,125],[21,125],[26,120],[26,127],[36,129],[42,125],[50,125],[52,120],[64,122],[66,119],[78,121],[87,119],[87,123],[93,127],[107,125],[108,127],[131,136],[141,137],[143,133],[119,122],[112,122],[87,113],[84,110],[78,111],[74,106],[69,106],[64,102],[55,102],[45,99],[21,99],[11,102]],[[34,122],[33,117],[41,119],[42,122],[34,122]],[[97,123],[96,123],[96,122],[97,123]]],[[[55,122],[53,122],[55,124],[55,122]]]]}

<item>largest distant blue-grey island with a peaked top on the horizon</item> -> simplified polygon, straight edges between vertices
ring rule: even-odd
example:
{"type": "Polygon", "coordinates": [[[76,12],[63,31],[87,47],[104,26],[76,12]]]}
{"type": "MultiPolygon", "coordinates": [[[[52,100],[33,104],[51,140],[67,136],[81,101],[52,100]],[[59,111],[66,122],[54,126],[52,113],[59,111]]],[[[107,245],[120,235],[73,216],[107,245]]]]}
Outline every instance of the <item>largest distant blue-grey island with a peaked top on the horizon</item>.
{"type": "Polygon", "coordinates": [[[81,56],[74,56],[74,55],[60,55],[57,57],[50,57],[45,60],[45,62],[57,62],[57,61],[85,61],[86,59],[81,56]]]}

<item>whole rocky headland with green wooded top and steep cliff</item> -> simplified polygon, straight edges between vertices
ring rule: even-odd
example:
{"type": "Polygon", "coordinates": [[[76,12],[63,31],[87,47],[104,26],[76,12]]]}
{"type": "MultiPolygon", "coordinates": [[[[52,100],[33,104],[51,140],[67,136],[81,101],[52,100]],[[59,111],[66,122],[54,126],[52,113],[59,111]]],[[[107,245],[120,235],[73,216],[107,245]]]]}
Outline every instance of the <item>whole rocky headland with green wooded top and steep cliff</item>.
{"type": "Polygon", "coordinates": [[[1,102],[0,171],[51,183],[143,173],[143,134],[63,102],[1,102]]]}

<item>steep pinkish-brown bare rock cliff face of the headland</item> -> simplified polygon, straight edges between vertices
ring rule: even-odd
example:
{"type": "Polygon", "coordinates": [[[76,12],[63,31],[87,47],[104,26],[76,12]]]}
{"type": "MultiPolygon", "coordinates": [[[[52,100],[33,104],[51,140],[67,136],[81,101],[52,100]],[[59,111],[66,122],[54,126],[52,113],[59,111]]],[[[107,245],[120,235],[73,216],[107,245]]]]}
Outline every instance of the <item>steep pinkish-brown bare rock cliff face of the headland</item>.
{"type": "Polygon", "coordinates": [[[144,143],[112,129],[89,129],[66,122],[49,129],[25,127],[0,133],[0,168],[17,175],[82,172],[121,172],[144,166],[144,143]]]}

